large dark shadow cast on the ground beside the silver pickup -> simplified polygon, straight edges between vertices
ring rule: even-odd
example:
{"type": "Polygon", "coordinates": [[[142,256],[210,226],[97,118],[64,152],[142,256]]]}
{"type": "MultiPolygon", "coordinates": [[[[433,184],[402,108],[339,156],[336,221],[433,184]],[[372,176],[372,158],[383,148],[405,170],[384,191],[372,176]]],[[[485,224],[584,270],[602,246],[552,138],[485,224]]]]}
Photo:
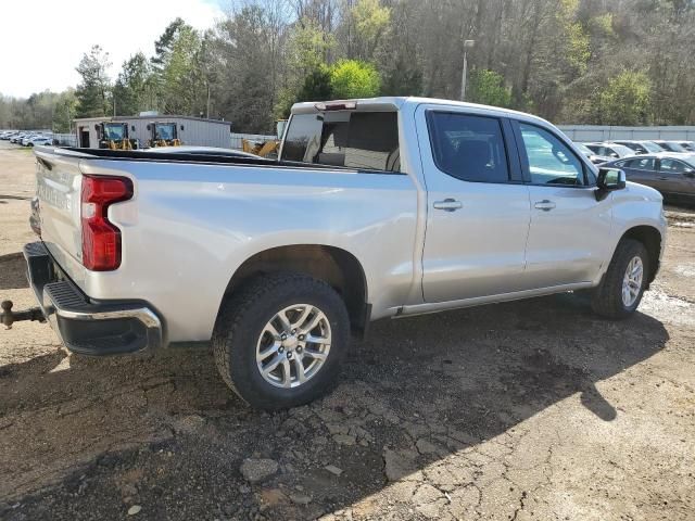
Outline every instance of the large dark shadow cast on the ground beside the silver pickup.
{"type": "Polygon", "coordinates": [[[334,392],[270,415],[237,399],[206,351],[90,359],[56,348],[0,366],[0,517],[70,517],[79,505],[106,519],[138,504],[148,519],[314,518],[578,393],[591,418],[612,421],[619,409],[596,383],[668,339],[649,316],[601,320],[571,295],[387,320],[354,345],[334,392]],[[249,486],[249,457],[279,471],[249,486]],[[173,491],[191,483],[178,513],[173,491]],[[291,500],[298,488],[311,503],[291,500]]]}

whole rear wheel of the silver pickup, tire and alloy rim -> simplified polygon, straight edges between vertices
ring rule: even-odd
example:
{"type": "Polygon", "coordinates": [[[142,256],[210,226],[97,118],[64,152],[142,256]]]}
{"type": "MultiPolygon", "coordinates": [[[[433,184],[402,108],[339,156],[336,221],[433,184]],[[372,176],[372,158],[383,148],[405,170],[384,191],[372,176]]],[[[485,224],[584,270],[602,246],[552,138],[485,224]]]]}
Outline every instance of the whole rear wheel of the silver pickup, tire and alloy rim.
{"type": "Polygon", "coordinates": [[[212,339],[225,382],[266,410],[325,394],[337,382],[349,342],[342,298],[304,275],[264,276],[247,284],[223,306],[212,339]]]}

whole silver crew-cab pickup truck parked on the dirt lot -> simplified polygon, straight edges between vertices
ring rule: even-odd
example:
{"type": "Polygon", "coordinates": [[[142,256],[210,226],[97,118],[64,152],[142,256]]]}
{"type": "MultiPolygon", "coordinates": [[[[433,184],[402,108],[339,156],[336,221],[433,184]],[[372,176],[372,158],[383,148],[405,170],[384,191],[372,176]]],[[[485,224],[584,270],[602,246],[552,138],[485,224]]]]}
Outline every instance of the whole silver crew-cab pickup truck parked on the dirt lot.
{"type": "Polygon", "coordinates": [[[294,105],[277,161],[37,148],[24,251],[68,350],[212,344],[252,406],[332,385],[371,320],[590,290],[631,315],[666,220],[538,117],[418,98],[294,105]]]}

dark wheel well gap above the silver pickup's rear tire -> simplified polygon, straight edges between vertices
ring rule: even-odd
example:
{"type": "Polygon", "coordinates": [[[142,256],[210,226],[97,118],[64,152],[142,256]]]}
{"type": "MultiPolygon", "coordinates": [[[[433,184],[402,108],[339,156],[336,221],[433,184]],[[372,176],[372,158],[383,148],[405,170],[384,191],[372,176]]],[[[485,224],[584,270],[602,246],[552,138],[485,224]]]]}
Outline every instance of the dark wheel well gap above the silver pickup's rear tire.
{"type": "MultiPolygon", "coordinates": [[[[258,276],[276,272],[298,272],[326,281],[342,297],[354,332],[364,334],[369,323],[371,306],[362,263],[352,253],[325,244],[290,244],[255,253],[233,272],[225,300],[258,276]]],[[[219,310],[218,310],[219,314],[219,310]]]]}

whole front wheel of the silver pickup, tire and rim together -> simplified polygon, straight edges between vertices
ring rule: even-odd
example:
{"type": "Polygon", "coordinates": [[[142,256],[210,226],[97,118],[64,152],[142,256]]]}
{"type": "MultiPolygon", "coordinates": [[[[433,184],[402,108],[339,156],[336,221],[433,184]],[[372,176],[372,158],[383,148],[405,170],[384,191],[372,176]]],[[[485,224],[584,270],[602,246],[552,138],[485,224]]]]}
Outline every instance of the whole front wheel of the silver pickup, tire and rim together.
{"type": "Polygon", "coordinates": [[[642,301],[649,274],[649,256],[640,241],[623,239],[606,275],[592,295],[592,308],[607,318],[627,318],[642,301]]]}

